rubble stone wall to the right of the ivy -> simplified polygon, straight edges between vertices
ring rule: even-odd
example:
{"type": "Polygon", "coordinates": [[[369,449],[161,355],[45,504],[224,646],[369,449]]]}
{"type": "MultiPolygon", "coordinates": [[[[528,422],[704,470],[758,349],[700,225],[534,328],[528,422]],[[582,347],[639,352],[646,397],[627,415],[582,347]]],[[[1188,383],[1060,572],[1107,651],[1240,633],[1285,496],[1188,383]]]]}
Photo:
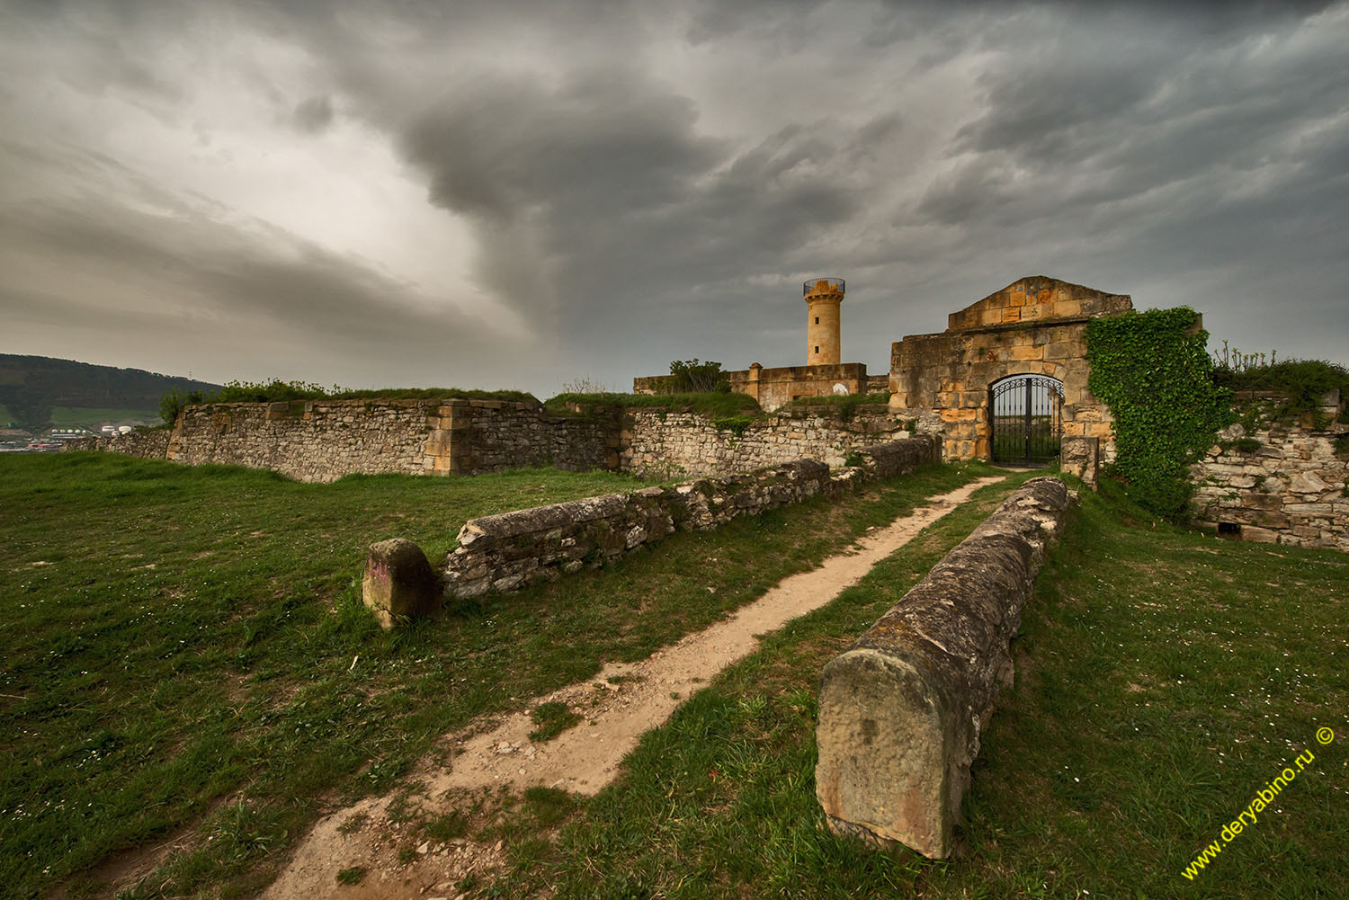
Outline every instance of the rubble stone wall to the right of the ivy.
{"type": "MultiPolygon", "coordinates": [[[[1237,412],[1268,420],[1278,403],[1246,394],[1237,412]]],[[[1337,452],[1337,443],[1349,443],[1349,424],[1336,421],[1344,409],[1334,391],[1317,417],[1219,432],[1219,444],[1190,467],[1195,517],[1245,541],[1349,551],[1349,448],[1337,452]],[[1323,428],[1314,426],[1317,418],[1323,428]]]]}

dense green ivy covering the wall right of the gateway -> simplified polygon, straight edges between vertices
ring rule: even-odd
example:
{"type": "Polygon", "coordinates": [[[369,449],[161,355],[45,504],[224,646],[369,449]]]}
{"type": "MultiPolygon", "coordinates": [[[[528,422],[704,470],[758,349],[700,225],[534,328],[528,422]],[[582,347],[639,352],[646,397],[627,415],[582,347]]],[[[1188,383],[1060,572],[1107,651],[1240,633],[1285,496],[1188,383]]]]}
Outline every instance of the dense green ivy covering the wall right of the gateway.
{"type": "Polygon", "coordinates": [[[1159,515],[1183,518],[1187,467],[1232,421],[1232,393],[1213,382],[1209,335],[1188,306],[1095,318],[1087,325],[1087,382],[1114,416],[1112,474],[1159,515]]]}

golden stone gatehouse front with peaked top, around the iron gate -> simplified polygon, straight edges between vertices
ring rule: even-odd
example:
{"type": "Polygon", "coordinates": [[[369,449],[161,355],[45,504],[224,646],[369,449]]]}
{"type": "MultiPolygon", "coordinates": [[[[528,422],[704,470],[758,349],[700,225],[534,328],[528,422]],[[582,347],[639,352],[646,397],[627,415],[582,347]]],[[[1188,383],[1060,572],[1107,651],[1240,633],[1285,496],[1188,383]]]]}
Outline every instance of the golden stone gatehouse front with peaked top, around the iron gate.
{"type": "Polygon", "coordinates": [[[935,410],[946,422],[946,459],[990,459],[989,389],[1009,375],[1063,383],[1063,434],[1097,437],[1114,459],[1110,410],[1087,389],[1086,328],[1132,309],[1124,294],[1054,278],[1021,278],[951,313],[947,329],[911,335],[890,349],[890,405],[912,416],[935,410]]]}

